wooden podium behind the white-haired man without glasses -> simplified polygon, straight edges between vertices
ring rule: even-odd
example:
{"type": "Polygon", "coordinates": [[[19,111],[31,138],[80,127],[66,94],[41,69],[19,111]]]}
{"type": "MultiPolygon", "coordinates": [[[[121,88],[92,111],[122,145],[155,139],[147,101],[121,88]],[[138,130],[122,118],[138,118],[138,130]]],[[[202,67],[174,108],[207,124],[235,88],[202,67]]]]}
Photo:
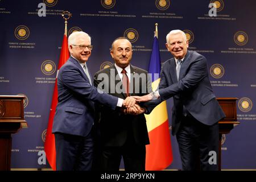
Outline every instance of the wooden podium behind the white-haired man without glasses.
{"type": "Polygon", "coordinates": [[[240,124],[237,121],[237,105],[238,98],[217,98],[218,104],[226,114],[226,117],[218,122],[219,136],[218,136],[218,170],[221,171],[221,138],[222,134],[228,134],[234,126],[240,124]]]}

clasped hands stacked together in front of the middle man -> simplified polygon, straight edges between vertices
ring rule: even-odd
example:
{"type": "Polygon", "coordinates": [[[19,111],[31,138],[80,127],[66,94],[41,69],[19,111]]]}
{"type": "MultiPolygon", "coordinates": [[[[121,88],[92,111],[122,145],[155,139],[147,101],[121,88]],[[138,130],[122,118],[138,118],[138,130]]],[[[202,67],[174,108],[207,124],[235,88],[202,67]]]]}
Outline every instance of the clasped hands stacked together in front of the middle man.
{"type": "Polygon", "coordinates": [[[134,97],[126,97],[123,101],[122,112],[125,114],[138,115],[144,113],[145,109],[136,103],[134,97]]]}

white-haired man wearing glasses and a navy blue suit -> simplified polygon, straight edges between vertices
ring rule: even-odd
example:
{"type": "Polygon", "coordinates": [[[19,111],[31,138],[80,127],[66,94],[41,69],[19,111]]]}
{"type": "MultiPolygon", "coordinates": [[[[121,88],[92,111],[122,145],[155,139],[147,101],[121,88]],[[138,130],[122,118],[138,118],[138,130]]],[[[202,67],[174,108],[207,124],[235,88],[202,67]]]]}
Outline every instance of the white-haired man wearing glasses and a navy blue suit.
{"type": "MultiPolygon", "coordinates": [[[[53,120],[56,169],[90,170],[94,147],[94,103],[110,109],[135,104],[134,98],[121,98],[100,92],[93,86],[86,61],[92,46],[85,32],[74,32],[68,38],[69,57],[57,76],[58,104],[53,120]]],[[[136,110],[136,108],[135,108],[136,110]]]]}

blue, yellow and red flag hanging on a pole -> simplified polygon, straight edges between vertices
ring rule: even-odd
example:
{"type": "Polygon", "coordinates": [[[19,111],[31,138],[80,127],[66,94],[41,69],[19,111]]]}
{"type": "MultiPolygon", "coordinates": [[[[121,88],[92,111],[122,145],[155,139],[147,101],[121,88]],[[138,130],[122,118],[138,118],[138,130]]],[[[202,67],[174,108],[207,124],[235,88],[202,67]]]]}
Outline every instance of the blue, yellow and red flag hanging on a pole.
{"type": "MultiPolygon", "coordinates": [[[[160,74],[160,52],[157,35],[157,24],[151,52],[148,73],[152,74],[152,89],[158,88],[160,78],[154,80],[154,73],[160,74]]],[[[172,163],[172,148],[169,131],[166,101],[155,107],[150,114],[145,114],[150,144],[146,146],[146,170],[158,171],[172,163]]]]}

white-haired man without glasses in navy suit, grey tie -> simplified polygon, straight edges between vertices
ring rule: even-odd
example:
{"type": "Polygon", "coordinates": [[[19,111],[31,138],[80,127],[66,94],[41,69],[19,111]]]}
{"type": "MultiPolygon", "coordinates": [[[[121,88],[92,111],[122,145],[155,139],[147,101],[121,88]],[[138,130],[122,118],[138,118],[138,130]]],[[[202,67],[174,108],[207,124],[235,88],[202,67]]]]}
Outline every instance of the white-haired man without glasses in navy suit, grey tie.
{"type": "Polygon", "coordinates": [[[183,170],[195,170],[197,156],[201,170],[217,170],[218,121],[225,114],[210,85],[207,59],[188,51],[183,31],[169,32],[166,41],[174,58],[163,64],[159,91],[135,98],[141,102],[152,100],[145,104],[146,113],[150,113],[155,105],[173,97],[172,135],[176,134],[183,170]]]}

